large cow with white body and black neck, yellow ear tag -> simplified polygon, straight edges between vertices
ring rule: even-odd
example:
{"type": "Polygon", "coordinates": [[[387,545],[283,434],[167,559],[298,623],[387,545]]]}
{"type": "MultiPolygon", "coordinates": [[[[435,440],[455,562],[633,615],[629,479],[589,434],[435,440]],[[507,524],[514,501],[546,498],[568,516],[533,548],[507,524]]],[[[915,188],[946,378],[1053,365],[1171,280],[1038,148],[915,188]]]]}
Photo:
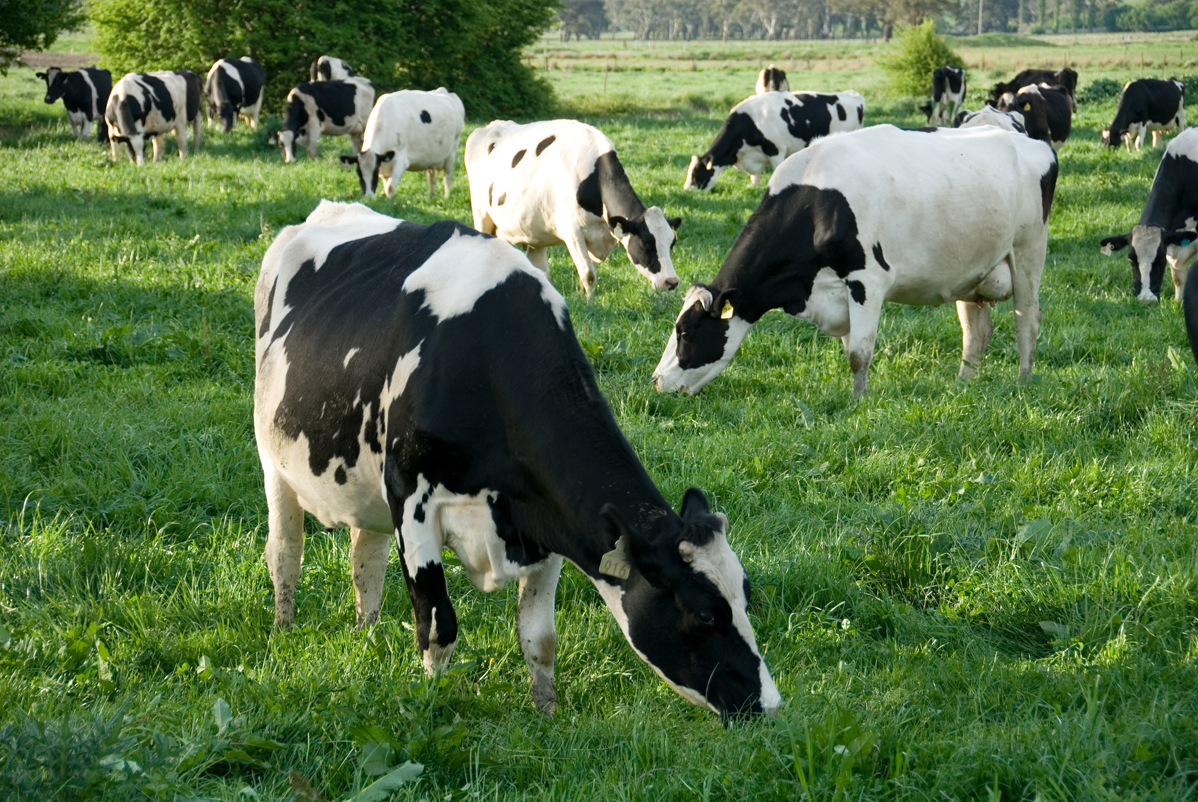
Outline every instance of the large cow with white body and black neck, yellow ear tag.
{"type": "Polygon", "coordinates": [[[774,171],[712,284],[686,291],[657,389],[697,393],[762,315],[782,309],[841,338],[863,395],[887,300],[956,302],[958,376],[970,378],[993,330],[986,304],[1012,296],[1025,381],[1057,172],[1049,146],[994,127],[875,126],[819,140],[774,171]]]}

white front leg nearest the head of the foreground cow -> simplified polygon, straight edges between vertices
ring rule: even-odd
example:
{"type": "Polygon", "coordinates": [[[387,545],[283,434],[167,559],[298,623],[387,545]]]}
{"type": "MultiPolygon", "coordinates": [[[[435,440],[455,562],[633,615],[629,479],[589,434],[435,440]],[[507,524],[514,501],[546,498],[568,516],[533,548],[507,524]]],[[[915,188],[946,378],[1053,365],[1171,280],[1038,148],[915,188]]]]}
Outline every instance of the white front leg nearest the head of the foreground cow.
{"type": "Polygon", "coordinates": [[[550,554],[537,565],[524,569],[520,576],[516,632],[525,662],[528,663],[532,700],[546,716],[552,716],[557,707],[557,691],[553,687],[553,656],[557,652],[553,600],[561,575],[562,557],[550,554]]]}

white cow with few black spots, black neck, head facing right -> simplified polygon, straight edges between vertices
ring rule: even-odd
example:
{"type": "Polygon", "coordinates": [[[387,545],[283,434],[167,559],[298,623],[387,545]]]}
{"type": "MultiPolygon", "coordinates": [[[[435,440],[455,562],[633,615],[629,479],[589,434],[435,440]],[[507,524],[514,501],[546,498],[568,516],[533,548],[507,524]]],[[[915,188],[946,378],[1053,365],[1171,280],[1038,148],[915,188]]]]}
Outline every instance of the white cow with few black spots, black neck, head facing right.
{"type": "Polygon", "coordinates": [[[618,244],[654,288],[678,286],[671,249],[682,219],[645,207],[598,128],[495,120],[466,139],[466,174],[474,227],[524,245],[546,273],[550,245],[564,243],[587,296],[595,263],[618,244]]]}

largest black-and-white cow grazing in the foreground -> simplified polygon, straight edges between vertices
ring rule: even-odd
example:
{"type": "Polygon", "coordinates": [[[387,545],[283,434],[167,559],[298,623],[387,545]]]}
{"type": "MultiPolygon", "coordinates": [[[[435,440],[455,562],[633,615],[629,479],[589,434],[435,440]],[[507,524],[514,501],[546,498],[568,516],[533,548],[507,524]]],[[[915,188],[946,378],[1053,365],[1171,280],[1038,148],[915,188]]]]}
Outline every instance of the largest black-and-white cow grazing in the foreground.
{"type": "Polygon", "coordinates": [[[518,250],[453,220],[322,201],[267,250],[254,309],[278,626],[295,614],[307,510],[351,528],[358,626],[379,616],[394,535],[429,673],[458,639],[452,548],[480,590],[519,582],[533,700],[551,713],[564,558],[684,698],[722,716],[779,705],[727,518],[698,488],[670,509],[565,300],[518,250]]]}

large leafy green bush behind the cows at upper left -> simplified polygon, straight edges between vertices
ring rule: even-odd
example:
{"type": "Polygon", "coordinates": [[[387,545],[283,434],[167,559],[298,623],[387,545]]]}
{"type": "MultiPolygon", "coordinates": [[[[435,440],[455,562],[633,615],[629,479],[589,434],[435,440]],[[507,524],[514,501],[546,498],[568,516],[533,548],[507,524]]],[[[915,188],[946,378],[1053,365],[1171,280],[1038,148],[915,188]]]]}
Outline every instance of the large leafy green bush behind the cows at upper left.
{"type": "Polygon", "coordinates": [[[266,107],[308,80],[322,54],[350,62],[382,92],[444,86],[476,119],[537,116],[552,90],[520,49],[552,19],[553,0],[95,0],[96,48],[115,73],[187,67],[224,56],[266,67],[266,107]]]}

